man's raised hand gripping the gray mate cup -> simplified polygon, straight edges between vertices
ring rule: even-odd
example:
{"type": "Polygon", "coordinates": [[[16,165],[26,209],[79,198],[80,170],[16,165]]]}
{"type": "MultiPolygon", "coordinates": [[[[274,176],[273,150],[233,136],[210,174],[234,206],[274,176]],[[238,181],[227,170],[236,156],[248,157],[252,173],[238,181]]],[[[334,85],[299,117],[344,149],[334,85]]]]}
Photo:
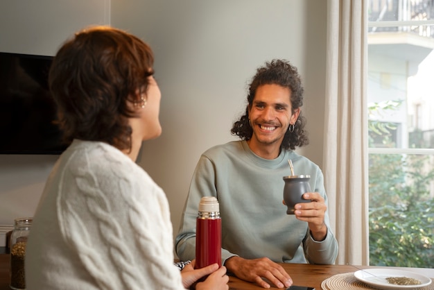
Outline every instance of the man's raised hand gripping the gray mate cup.
{"type": "Polygon", "coordinates": [[[318,192],[306,192],[304,199],[310,199],[310,203],[297,203],[295,205],[295,217],[300,221],[307,221],[311,235],[315,241],[322,241],[327,236],[327,226],[324,223],[324,215],[327,205],[324,198],[318,192]]]}

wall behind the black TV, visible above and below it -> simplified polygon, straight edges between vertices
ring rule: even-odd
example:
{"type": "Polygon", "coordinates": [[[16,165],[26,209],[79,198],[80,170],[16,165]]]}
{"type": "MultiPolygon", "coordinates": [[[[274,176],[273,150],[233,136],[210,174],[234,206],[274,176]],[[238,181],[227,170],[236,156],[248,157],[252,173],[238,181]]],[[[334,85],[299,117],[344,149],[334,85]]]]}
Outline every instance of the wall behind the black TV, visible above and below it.
{"type": "MultiPolygon", "coordinates": [[[[0,51],[53,56],[67,37],[92,24],[110,24],[110,0],[1,1],[0,51]]],[[[0,225],[33,216],[57,158],[0,155],[0,225]]]]}

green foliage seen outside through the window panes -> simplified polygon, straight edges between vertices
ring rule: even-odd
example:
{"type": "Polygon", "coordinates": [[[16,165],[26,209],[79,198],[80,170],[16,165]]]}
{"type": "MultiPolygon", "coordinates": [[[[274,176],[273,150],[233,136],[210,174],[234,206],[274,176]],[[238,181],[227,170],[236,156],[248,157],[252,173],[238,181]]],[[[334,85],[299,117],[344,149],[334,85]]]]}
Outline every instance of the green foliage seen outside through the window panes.
{"type": "MultiPolygon", "coordinates": [[[[378,109],[375,104],[373,108],[378,109]]],[[[390,108],[389,108],[390,109],[390,108]]],[[[370,121],[370,140],[383,137],[393,147],[393,124],[370,121]],[[372,130],[375,128],[376,130],[372,130]],[[376,135],[376,136],[375,136],[376,135]]],[[[432,267],[434,198],[430,194],[434,164],[429,155],[370,154],[370,264],[432,267]]]]}

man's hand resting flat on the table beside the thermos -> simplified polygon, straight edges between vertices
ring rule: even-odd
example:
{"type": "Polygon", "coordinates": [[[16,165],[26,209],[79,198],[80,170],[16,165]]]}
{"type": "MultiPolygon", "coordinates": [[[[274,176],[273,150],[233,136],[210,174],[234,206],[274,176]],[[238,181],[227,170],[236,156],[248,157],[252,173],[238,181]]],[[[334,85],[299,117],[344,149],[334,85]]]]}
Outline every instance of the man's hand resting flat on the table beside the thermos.
{"type": "Polygon", "coordinates": [[[263,288],[270,288],[264,278],[275,284],[277,288],[290,287],[293,280],[279,264],[263,257],[260,259],[243,259],[230,257],[226,260],[227,271],[234,273],[236,277],[248,282],[256,282],[263,288]]]}

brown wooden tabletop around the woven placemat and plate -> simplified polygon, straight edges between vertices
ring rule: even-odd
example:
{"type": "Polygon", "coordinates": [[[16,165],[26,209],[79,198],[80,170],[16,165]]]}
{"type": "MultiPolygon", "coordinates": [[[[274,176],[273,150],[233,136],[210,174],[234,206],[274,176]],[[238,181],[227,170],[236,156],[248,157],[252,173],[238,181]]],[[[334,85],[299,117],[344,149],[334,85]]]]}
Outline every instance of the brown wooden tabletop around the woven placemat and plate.
{"type": "MultiPolygon", "coordinates": [[[[8,254],[0,254],[0,290],[9,288],[9,263],[8,254]]],[[[370,266],[350,265],[311,265],[311,264],[281,264],[289,273],[295,285],[315,287],[321,290],[321,282],[333,275],[358,271],[359,268],[374,268],[370,266]]],[[[378,267],[375,267],[378,268],[378,267]]],[[[407,271],[415,271],[429,278],[434,278],[432,268],[401,268],[407,271]]],[[[230,277],[229,289],[231,290],[252,290],[263,289],[256,284],[245,282],[236,277],[230,277]]]]}

